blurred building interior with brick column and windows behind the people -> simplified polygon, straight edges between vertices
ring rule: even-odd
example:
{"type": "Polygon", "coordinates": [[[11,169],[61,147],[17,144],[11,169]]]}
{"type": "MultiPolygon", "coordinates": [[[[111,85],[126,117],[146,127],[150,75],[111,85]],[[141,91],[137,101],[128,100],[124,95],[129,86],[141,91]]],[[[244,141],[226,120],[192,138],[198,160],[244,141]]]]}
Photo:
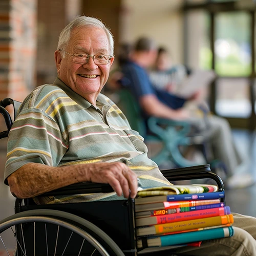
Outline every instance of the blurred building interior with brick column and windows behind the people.
{"type": "MultiPolygon", "coordinates": [[[[255,10],[254,0],[1,0],[0,99],[22,101],[36,86],[52,83],[60,31],[77,14],[94,16],[111,28],[115,49],[148,36],[172,54],[174,63],[215,70],[210,110],[229,121],[255,178],[255,10]]],[[[2,116],[0,128],[5,130],[2,116]]],[[[6,144],[0,141],[0,202],[5,205],[0,219],[13,214],[14,205],[3,184],[6,144]]],[[[233,211],[256,216],[250,203],[255,196],[255,186],[241,189],[236,199],[228,191],[227,202],[233,211]]]]}

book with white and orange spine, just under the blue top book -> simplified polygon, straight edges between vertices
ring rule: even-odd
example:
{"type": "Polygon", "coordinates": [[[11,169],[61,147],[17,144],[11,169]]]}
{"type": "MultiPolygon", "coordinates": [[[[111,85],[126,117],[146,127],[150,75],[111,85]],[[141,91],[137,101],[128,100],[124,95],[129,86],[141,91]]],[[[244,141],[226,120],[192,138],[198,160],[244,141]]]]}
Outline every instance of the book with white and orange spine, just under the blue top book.
{"type": "Polygon", "coordinates": [[[198,205],[217,204],[221,203],[220,199],[210,200],[196,200],[196,201],[174,201],[174,202],[158,202],[148,204],[135,205],[135,212],[146,211],[146,210],[161,210],[161,209],[174,209],[180,207],[192,207],[198,205]]]}

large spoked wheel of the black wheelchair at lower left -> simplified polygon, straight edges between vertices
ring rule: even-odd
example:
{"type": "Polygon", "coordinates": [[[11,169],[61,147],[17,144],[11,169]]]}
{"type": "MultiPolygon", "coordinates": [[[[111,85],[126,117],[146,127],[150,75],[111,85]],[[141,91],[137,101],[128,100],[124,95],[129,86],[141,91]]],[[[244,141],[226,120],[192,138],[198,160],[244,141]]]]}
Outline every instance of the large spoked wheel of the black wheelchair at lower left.
{"type": "Polygon", "coordinates": [[[0,222],[0,251],[6,255],[124,256],[101,229],[68,212],[28,210],[0,222]],[[10,238],[16,244],[10,250],[10,238]]]}

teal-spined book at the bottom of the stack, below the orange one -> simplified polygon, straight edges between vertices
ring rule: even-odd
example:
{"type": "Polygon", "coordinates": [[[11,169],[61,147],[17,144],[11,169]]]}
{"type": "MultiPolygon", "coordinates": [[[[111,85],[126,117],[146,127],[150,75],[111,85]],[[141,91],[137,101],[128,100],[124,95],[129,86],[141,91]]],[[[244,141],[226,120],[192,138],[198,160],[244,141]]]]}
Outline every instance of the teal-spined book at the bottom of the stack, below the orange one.
{"type": "Polygon", "coordinates": [[[160,236],[160,237],[142,238],[137,241],[137,246],[138,248],[142,248],[146,246],[147,247],[170,246],[170,245],[180,244],[181,242],[184,244],[184,243],[204,241],[209,239],[232,237],[233,233],[234,233],[233,228],[230,226],[230,227],[214,228],[214,229],[201,230],[201,231],[195,231],[195,232],[169,234],[169,235],[160,236]]]}

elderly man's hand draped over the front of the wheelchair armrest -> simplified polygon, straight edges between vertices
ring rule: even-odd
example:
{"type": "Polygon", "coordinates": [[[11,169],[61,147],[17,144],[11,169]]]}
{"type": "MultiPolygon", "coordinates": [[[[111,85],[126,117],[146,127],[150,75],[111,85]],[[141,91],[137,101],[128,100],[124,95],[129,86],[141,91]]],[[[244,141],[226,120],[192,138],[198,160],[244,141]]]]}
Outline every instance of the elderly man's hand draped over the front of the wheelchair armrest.
{"type": "MultiPolygon", "coordinates": [[[[124,163],[96,163],[84,166],[86,181],[108,183],[118,196],[135,198],[137,195],[137,175],[124,163]]],[[[80,176],[81,177],[81,176],[80,176]]]]}

